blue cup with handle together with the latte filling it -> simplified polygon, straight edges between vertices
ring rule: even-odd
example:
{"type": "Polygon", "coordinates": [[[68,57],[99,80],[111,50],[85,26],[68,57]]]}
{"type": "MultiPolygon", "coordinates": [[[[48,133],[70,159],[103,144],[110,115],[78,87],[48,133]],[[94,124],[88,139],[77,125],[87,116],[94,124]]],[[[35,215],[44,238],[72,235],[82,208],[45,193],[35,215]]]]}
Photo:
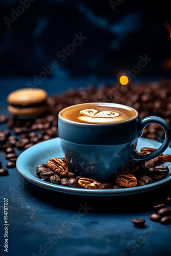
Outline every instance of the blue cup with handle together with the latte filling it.
{"type": "Polygon", "coordinates": [[[59,113],[58,132],[71,172],[95,180],[114,176],[127,163],[130,166],[153,159],[170,143],[170,127],[165,120],[156,116],[140,120],[135,109],[116,103],[69,106],[59,113]],[[157,151],[139,155],[136,153],[138,138],[149,123],[162,126],[165,140],[157,151]]]}

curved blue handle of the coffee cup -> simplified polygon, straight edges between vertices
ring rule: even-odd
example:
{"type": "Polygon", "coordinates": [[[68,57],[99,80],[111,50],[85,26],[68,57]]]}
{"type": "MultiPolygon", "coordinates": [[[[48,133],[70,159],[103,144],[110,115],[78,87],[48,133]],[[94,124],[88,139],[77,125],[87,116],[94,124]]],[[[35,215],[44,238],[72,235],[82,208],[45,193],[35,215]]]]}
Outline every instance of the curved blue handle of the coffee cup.
{"type": "Polygon", "coordinates": [[[149,123],[157,123],[163,128],[164,133],[165,133],[164,142],[158,148],[158,150],[156,150],[153,153],[146,154],[146,155],[140,155],[140,154],[136,153],[133,158],[136,162],[148,161],[155,157],[158,157],[166,150],[166,148],[170,144],[170,139],[171,139],[170,126],[164,119],[157,117],[157,116],[149,116],[149,117],[139,120],[139,126],[138,126],[139,137],[142,136],[145,126],[149,123]]]}

